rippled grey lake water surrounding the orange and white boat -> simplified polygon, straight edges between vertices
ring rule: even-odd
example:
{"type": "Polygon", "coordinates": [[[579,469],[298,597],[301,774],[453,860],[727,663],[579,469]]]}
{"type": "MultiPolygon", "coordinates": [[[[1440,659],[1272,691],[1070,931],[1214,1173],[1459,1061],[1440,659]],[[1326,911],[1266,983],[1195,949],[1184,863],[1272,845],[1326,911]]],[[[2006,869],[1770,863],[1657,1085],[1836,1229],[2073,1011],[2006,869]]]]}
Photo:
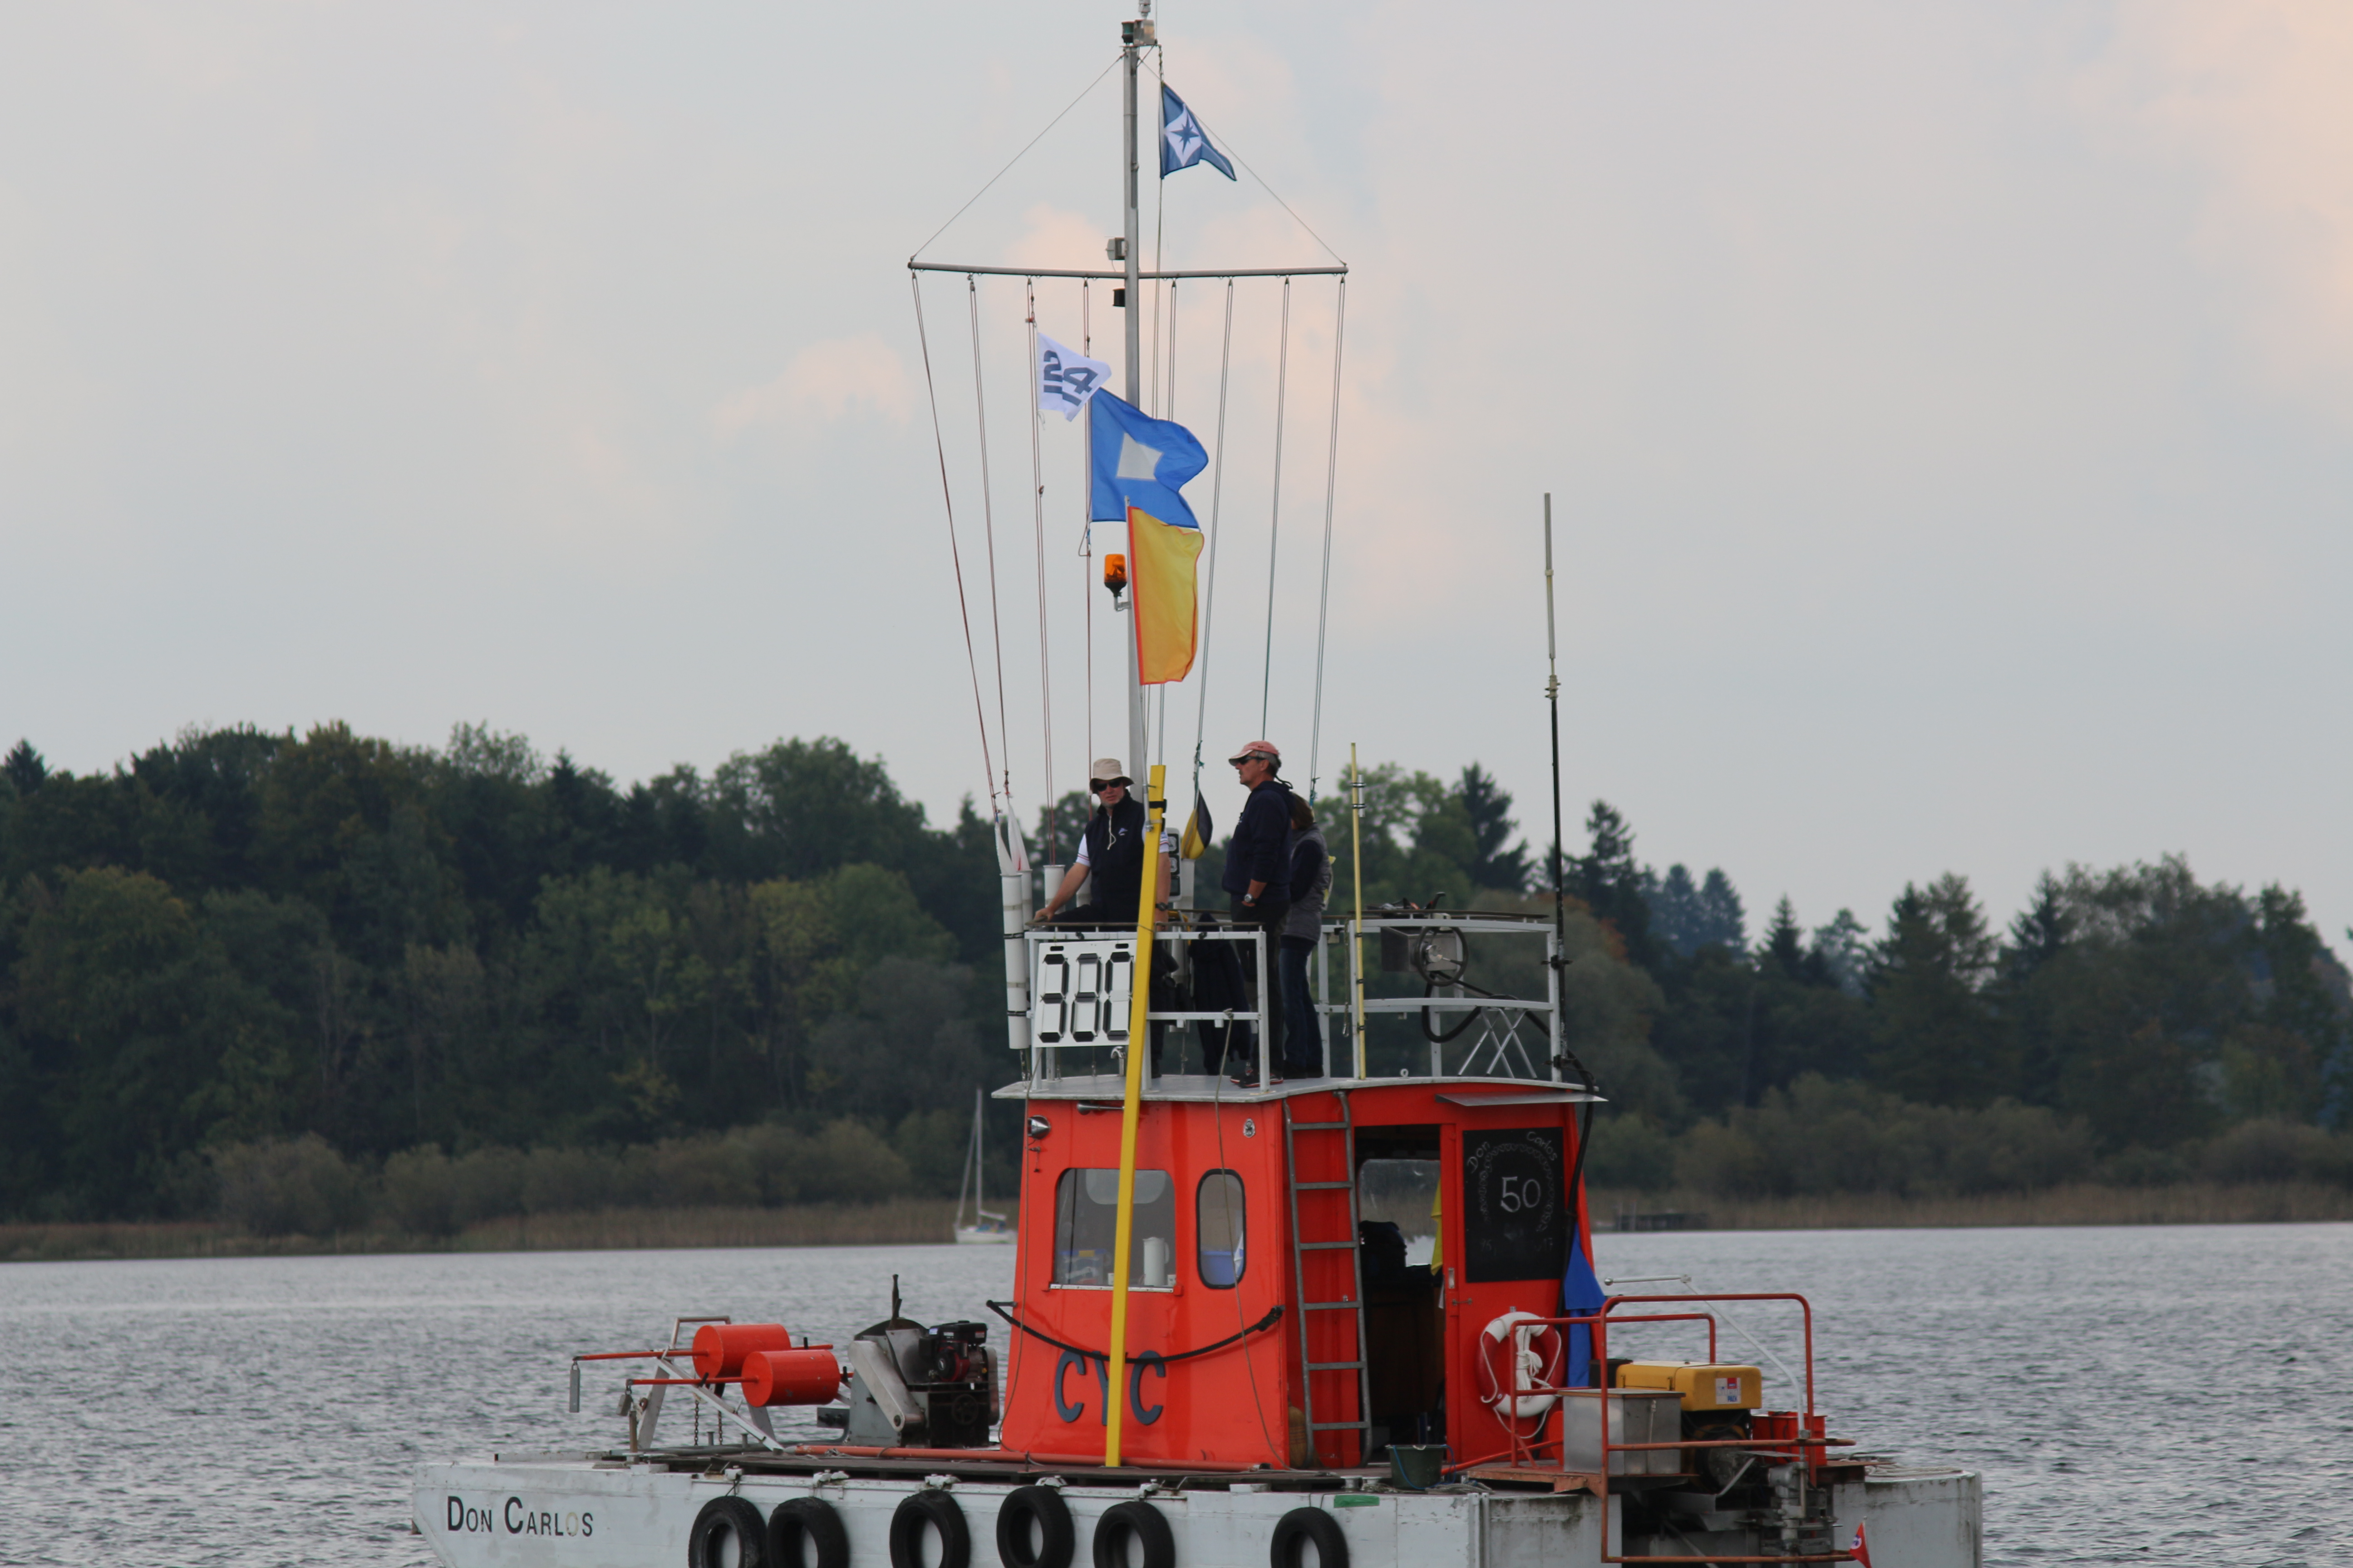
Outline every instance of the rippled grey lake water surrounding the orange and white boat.
{"type": "MultiPolygon", "coordinates": [[[[5,1265],[0,1561],[424,1568],[419,1460],[619,1434],[619,1371],[565,1413],[569,1352],[678,1312],[840,1342],[894,1272],[981,1319],[1009,1253],[5,1265]]],[[[1807,1293],[1833,1432],[1981,1469],[1988,1563],[2353,1561],[2353,1225],[1605,1237],[1600,1272],[1807,1293]]],[[[1739,1316],[1798,1371],[1774,1312],[1739,1316]]]]}

